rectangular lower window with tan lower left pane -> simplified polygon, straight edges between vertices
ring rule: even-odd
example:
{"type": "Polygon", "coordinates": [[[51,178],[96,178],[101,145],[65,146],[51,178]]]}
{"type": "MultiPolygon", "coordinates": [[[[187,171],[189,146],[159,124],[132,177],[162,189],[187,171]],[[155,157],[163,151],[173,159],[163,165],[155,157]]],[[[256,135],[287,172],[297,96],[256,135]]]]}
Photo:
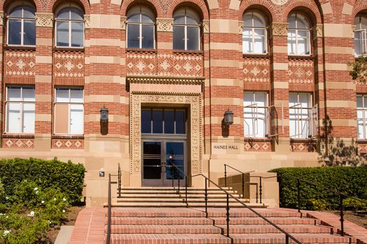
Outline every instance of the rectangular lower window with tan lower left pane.
{"type": "Polygon", "coordinates": [[[82,88],[55,89],[55,134],[84,133],[83,102],[82,88]]]}

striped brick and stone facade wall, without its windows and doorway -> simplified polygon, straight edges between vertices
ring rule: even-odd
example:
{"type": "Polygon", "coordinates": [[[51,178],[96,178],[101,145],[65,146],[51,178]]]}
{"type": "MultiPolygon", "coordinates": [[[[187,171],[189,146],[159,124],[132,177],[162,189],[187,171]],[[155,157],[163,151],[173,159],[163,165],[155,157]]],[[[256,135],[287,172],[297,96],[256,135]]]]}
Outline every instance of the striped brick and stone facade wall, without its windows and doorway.
{"type": "MultiPolygon", "coordinates": [[[[65,1],[69,4],[70,1],[65,1]]],[[[154,49],[127,47],[127,12],[134,0],[75,0],[84,12],[84,47],[55,45],[54,10],[63,1],[29,1],[36,8],[36,45],[8,45],[1,32],[1,158],[72,160],[85,165],[88,205],[106,201],[107,178],[122,167],[123,185],[141,185],[141,108],[180,107],[187,111],[187,174],[217,181],[223,164],[243,171],[317,166],[319,142],[328,137],[357,141],[356,84],[347,63],[354,61],[354,17],[367,0],[147,0],[156,15],[154,49]],[[56,5],[55,5],[56,4],[56,5]],[[173,49],[173,13],[190,6],[201,17],[200,49],[173,49]],[[264,54],[244,54],[243,14],[266,17],[264,54]],[[289,13],[310,21],[310,54],[288,55],[289,13]],[[323,15],[323,16],[322,16],[323,15]],[[6,132],[6,88],[34,86],[34,133],[6,132]],[[55,88],[84,90],[84,133],[55,135],[55,88]],[[246,137],[244,91],[268,94],[268,137],[246,137]],[[317,105],[312,138],[289,138],[289,93],[309,93],[317,105]],[[107,107],[108,123],[100,109],[107,107]],[[231,109],[233,124],[223,123],[231,109]],[[332,121],[332,130],[324,126],[332,121]]],[[[60,5],[61,4],[61,5],[60,5]]],[[[7,29],[10,1],[0,0],[0,24],[7,29]]],[[[358,145],[366,153],[366,142],[358,145]]],[[[202,182],[193,182],[201,184],[202,182]]]]}

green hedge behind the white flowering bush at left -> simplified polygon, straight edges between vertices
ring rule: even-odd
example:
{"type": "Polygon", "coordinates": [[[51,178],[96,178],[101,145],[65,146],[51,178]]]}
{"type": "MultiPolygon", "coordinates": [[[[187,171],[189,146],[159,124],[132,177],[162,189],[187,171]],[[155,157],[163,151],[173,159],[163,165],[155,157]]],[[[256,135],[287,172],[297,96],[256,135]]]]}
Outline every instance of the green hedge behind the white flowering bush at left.
{"type": "Polygon", "coordinates": [[[34,181],[40,188],[55,188],[69,197],[71,204],[80,201],[85,168],[72,162],[41,159],[0,160],[0,179],[7,195],[13,195],[15,186],[24,179],[34,181]]]}

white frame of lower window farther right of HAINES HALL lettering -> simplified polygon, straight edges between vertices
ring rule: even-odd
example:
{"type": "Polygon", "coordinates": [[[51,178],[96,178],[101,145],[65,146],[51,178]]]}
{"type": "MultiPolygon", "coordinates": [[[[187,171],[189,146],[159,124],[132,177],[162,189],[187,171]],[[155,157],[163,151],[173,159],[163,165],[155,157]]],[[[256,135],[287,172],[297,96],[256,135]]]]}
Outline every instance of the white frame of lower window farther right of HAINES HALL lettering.
{"type": "MultiPolygon", "coordinates": [[[[293,93],[293,92],[292,92],[293,93]]],[[[289,121],[296,121],[296,134],[291,135],[292,131],[289,128],[289,137],[293,139],[307,139],[317,137],[318,135],[318,108],[317,105],[312,106],[312,94],[311,93],[298,93],[294,92],[297,96],[297,104],[289,106],[289,121]],[[308,107],[303,107],[299,102],[299,95],[306,94],[308,96],[308,107]],[[290,110],[294,109],[295,116],[291,117],[290,110]],[[307,110],[308,117],[305,118],[303,111],[307,110]],[[303,137],[303,128],[307,126],[307,136],[303,137]]]]}

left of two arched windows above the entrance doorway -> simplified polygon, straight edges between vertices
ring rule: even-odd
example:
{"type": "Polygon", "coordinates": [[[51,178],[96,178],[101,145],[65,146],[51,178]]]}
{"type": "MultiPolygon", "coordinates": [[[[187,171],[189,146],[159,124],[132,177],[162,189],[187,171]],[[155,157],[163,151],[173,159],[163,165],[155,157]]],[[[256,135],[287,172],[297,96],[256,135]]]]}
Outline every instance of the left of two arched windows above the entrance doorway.
{"type": "Polygon", "coordinates": [[[127,14],[127,47],[154,48],[155,15],[149,8],[135,6],[127,14]]]}

